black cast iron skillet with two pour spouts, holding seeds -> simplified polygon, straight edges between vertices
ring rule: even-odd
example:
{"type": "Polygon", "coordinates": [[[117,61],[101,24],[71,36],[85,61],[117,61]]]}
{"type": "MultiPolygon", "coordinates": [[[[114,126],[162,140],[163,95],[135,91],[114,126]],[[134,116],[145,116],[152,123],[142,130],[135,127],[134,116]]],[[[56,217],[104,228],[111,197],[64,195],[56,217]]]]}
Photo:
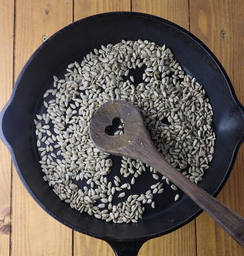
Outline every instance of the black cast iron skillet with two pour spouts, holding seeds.
{"type": "MultiPolygon", "coordinates": [[[[204,85],[214,110],[217,140],[213,161],[199,186],[216,196],[225,184],[243,142],[243,106],[213,53],[191,33],[168,20],[142,13],[113,12],[94,15],[66,26],[45,41],[27,61],[0,115],[1,139],[34,200],[69,228],[107,241],[116,255],[137,255],[145,241],[184,226],[202,210],[181,191],[177,191],[180,200],[174,202],[176,193],[166,184],[165,193],[155,195],[157,207],[152,209],[148,205],[138,223],[115,225],[80,214],[61,201],[42,179],[33,119],[37,111],[42,111],[42,95],[52,87],[54,74],[62,77],[69,63],[74,60],[81,62],[83,56],[94,48],[99,49],[101,44],[138,38],[166,44],[184,70],[204,85]]],[[[132,70],[131,74],[140,82],[141,70],[132,70]]],[[[113,160],[116,158],[119,157],[112,156],[113,160]]],[[[118,174],[119,169],[119,164],[115,164],[109,175],[118,174]]],[[[81,182],[77,184],[81,185],[81,182]]],[[[145,193],[152,184],[155,184],[152,174],[145,172],[127,194],[145,193]]]]}

